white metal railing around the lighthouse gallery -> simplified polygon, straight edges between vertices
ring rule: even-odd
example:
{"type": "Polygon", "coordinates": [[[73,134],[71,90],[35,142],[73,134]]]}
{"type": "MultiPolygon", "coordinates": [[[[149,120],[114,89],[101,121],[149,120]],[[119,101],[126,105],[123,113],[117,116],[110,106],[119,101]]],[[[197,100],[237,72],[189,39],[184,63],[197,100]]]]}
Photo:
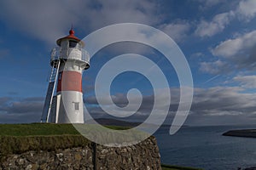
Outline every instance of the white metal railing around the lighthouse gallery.
{"type": "Polygon", "coordinates": [[[90,55],[84,48],[53,48],[50,53],[50,62],[59,59],[77,59],[90,63],[90,55]]]}

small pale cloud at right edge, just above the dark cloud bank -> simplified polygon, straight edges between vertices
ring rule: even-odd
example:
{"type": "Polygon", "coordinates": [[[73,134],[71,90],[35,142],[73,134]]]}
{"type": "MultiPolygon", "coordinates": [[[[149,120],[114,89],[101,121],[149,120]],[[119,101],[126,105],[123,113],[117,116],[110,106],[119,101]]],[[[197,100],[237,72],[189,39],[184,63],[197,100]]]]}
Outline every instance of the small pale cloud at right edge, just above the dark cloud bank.
{"type": "Polygon", "coordinates": [[[256,76],[237,76],[233,78],[234,81],[239,82],[242,88],[256,88],[256,76]]]}

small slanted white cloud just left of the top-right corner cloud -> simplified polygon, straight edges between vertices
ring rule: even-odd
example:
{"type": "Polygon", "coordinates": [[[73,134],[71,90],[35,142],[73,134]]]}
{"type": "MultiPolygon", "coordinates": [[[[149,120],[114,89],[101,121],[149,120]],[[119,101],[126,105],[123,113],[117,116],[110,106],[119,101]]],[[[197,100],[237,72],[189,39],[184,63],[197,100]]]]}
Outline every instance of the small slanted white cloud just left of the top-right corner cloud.
{"type": "Polygon", "coordinates": [[[213,35],[224,30],[230,24],[230,20],[234,18],[233,11],[228,13],[217,14],[212,21],[201,20],[201,23],[195,30],[195,35],[199,37],[212,37],[213,35]]]}

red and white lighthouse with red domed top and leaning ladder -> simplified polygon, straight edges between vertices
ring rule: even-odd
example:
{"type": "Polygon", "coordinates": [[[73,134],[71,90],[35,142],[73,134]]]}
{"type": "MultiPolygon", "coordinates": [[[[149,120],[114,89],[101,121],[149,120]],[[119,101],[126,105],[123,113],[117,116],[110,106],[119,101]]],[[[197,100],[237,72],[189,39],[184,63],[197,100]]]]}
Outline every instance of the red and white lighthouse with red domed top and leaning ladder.
{"type": "Polygon", "coordinates": [[[90,55],[84,50],[84,42],[74,33],[72,26],[69,35],[58,39],[58,47],[51,51],[51,71],[41,122],[84,123],[82,75],[90,67],[90,55]]]}

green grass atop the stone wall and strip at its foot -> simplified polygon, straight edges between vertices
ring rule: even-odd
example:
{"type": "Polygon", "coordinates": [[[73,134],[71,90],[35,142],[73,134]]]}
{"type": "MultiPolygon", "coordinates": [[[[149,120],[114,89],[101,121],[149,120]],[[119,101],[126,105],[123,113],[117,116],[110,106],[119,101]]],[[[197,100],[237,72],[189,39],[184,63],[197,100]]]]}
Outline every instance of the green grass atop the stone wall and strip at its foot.
{"type": "MultiPolygon", "coordinates": [[[[88,127],[94,128],[93,125],[88,127]]],[[[106,127],[113,130],[129,129],[129,127],[118,126],[106,127]]],[[[143,135],[143,133],[136,134],[143,135]]],[[[9,154],[19,154],[28,150],[58,150],[84,145],[91,147],[92,142],[85,139],[72,124],[0,124],[0,161],[9,154]]],[[[161,167],[163,170],[199,170],[168,165],[161,167]]]]}

